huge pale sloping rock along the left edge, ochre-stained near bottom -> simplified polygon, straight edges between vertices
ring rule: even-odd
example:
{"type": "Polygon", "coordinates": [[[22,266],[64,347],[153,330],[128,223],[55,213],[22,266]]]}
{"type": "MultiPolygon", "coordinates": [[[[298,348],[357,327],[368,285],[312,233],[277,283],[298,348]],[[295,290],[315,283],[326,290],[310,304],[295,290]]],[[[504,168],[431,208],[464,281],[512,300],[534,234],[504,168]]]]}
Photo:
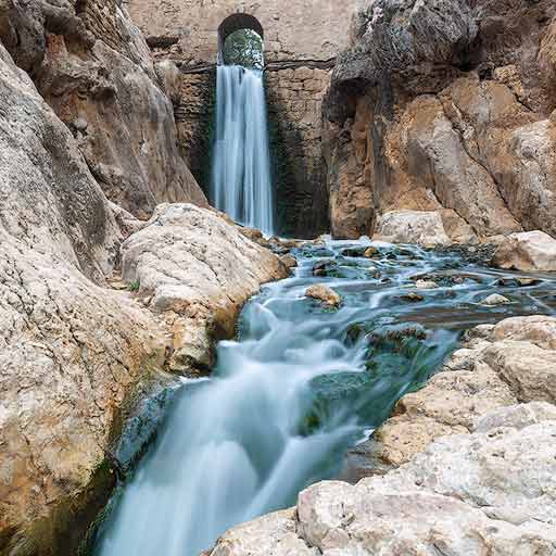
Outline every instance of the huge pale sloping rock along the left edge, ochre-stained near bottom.
{"type": "Polygon", "coordinates": [[[165,331],[105,287],[121,230],[68,129],[0,46],[0,553],[71,554],[165,331]]]}

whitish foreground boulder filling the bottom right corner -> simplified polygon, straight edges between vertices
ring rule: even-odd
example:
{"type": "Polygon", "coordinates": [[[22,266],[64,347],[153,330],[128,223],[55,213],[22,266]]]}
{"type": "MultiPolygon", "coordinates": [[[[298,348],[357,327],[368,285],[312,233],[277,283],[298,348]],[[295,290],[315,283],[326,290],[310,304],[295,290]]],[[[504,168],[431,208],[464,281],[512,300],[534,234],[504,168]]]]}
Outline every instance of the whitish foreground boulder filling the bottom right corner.
{"type": "Polygon", "coordinates": [[[554,554],[556,421],[530,413],[518,427],[491,416],[501,428],[441,439],[384,477],[317,483],[294,511],[233,529],[210,554],[554,554]]]}

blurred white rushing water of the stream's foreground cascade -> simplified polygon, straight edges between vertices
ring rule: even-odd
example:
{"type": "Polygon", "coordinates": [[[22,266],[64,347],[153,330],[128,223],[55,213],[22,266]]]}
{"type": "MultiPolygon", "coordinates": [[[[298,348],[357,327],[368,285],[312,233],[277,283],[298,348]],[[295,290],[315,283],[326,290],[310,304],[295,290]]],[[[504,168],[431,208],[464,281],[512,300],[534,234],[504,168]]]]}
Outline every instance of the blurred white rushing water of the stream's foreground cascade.
{"type": "MultiPolygon", "coordinates": [[[[220,343],[217,377],[186,384],[98,554],[197,555],[229,527],[292,505],[361,435],[340,416],[315,434],[299,434],[308,382],[364,369],[363,351],[331,339],[323,316],[287,308],[299,304],[299,288],[295,278],[267,287],[244,311],[248,339],[220,343]]],[[[345,314],[324,317],[330,327],[345,325],[345,314]]]]}

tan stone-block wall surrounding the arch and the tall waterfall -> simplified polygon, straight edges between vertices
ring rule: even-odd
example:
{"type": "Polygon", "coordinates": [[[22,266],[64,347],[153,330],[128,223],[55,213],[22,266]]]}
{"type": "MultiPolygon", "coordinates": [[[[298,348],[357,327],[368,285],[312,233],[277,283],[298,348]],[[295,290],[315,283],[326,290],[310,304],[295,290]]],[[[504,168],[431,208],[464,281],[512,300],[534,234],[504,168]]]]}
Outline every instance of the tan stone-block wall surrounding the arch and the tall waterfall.
{"type": "Polygon", "coordinates": [[[328,229],[323,176],[321,102],[334,58],[348,46],[358,0],[293,2],[128,0],[157,60],[180,68],[176,121],[180,146],[208,191],[219,42],[248,27],[264,37],[279,232],[314,237],[328,229]]]}

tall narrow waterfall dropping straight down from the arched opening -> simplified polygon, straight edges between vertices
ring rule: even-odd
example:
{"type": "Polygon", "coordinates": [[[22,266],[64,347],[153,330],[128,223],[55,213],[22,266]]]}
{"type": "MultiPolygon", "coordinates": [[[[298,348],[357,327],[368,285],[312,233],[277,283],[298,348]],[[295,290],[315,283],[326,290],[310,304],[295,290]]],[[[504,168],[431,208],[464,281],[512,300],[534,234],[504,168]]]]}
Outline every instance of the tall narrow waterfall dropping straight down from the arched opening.
{"type": "Polygon", "coordinates": [[[263,72],[219,65],[212,202],[236,222],[274,233],[263,72]]]}

